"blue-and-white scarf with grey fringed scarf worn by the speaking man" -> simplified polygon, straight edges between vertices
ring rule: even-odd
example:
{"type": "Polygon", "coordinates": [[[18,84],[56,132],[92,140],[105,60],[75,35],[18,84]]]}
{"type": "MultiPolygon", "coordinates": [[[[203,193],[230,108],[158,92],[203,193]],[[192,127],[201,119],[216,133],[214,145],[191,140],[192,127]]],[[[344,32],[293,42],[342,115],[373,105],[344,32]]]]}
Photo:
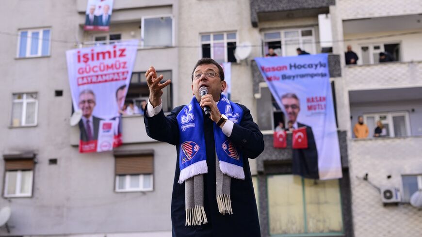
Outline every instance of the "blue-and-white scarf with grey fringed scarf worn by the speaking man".
{"type": "MultiPolygon", "coordinates": [[[[239,124],[242,108],[221,95],[217,108],[228,120],[239,124]]],[[[204,118],[195,96],[177,116],[179,125],[179,184],[185,182],[186,225],[207,223],[203,209],[203,176],[208,173],[204,118]]],[[[243,155],[214,123],[217,204],[222,214],[232,214],[230,177],[244,179],[243,155]]]]}

